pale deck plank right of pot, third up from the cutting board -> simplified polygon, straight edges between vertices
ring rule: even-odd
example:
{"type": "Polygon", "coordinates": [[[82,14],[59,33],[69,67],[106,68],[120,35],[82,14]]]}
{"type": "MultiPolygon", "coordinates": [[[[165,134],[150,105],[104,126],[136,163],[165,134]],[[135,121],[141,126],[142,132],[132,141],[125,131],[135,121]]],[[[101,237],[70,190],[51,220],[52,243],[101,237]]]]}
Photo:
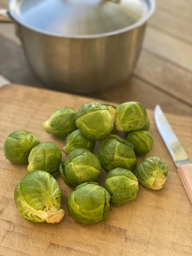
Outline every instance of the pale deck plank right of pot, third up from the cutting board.
{"type": "Polygon", "coordinates": [[[192,71],[192,45],[148,27],[143,47],[181,68],[192,71]]]}

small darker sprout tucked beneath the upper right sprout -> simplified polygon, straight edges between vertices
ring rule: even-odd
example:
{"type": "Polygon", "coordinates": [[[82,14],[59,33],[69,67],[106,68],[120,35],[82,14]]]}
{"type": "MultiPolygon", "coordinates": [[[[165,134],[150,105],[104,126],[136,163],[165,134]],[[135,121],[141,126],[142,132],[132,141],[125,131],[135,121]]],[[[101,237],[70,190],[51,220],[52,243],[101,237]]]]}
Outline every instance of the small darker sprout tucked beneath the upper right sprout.
{"type": "Polygon", "coordinates": [[[145,156],[153,148],[153,137],[143,130],[128,133],[126,140],[133,144],[136,156],[145,156]]]}

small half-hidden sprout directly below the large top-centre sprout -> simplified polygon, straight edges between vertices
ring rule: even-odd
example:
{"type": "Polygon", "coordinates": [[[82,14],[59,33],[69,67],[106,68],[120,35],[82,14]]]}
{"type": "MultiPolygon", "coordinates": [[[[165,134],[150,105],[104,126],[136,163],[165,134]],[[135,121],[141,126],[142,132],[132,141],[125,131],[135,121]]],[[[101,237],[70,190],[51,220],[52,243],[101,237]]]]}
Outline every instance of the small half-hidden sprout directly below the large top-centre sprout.
{"type": "Polygon", "coordinates": [[[79,130],[75,130],[67,135],[63,151],[68,154],[76,148],[93,150],[95,148],[95,141],[87,139],[79,130]]]}

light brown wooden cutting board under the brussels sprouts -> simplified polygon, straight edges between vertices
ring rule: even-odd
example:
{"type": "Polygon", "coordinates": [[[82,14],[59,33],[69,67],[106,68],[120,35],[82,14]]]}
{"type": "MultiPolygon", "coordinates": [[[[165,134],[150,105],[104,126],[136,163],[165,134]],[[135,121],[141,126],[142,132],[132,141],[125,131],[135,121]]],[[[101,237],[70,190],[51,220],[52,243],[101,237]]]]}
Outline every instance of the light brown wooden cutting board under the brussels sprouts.
{"type": "MultiPolygon", "coordinates": [[[[78,110],[93,99],[21,85],[0,89],[0,255],[40,256],[175,256],[192,255],[192,205],[182,186],[176,167],[157,132],[153,111],[148,110],[154,147],[148,156],[166,161],[169,175],[158,191],[139,186],[136,200],[111,207],[106,221],[85,225],[75,222],[67,211],[72,188],[56,177],[63,193],[64,219],[57,224],[34,223],[17,212],[13,193],[27,174],[27,165],[12,164],[4,156],[4,141],[13,131],[24,129],[60,148],[64,140],[46,133],[42,123],[57,108],[78,110]]],[[[166,114],[188,156],[192,160],[192,118],[166,114]]],[[[63,154],[63,158],[65,155],[63,154]]],[[[141,162],[142,158],[138,158],[141,162]]],[[[104,184],[106,172],[99,180],[104,184]]]]}

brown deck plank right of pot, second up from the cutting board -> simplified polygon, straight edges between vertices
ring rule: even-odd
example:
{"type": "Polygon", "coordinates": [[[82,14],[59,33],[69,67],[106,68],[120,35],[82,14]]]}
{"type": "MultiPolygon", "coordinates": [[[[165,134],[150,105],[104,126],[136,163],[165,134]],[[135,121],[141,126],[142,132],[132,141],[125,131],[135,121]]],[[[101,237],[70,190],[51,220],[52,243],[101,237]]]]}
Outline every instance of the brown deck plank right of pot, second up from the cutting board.
{"type": "Polygon", "coordinates": [[[192,106],[192,73],[142,51],[133,73],[146,83],[192,106]]]}

